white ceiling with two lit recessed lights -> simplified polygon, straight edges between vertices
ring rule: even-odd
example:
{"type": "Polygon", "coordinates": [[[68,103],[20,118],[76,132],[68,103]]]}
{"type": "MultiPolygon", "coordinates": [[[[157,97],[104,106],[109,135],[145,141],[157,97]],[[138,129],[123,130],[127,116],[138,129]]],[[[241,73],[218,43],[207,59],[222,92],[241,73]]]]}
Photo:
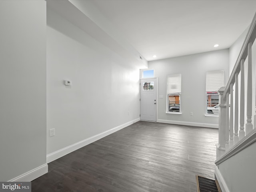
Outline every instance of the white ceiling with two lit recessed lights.
{"type": "Polygon", "coordinates": [[[148,61],[229,48],[256,12],[256,0],[92,3],[148,61]],[[214,44],[220,46],[214,48],[214,44]]]}

